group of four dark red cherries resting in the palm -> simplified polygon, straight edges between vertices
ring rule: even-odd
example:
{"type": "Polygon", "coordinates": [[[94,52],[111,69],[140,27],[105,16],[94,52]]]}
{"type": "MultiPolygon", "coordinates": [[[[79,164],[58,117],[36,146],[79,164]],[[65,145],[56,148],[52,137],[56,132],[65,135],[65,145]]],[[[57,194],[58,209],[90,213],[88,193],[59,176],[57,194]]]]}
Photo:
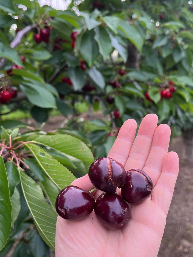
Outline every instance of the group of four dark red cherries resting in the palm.
{"type": "Polygon", "coordinates": [[[121,163],[109,157],[95,160],[88,176],[96,189],[104,193],[95,202],[90,192],[77,186],[65,187],[56,199],[59,216],[69,221],[80,221],[94,209],[99,222],[106,228],[123,229],[130,218],[127,203],[140,204],[150,197],[153,190],[151,178],[145,172],[138,169],[126,172],[121,163]]]}

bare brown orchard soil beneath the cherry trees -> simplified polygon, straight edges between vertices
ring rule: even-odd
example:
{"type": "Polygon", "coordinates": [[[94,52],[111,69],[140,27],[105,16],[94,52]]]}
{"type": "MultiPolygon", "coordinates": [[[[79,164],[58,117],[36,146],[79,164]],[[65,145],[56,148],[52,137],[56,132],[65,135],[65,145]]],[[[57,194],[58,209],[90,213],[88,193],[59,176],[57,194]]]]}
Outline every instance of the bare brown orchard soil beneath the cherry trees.
{"type": "MultiPolygon", "coordinates": [[[[90,119],[86,114],[83,118],[90,119]]],[[[101,118],[101,114],[94,114],[94,118],[101,118]]],[[[59,128],[63,121],[64,116],[50,117],[43,130],[59,128]]],[[[35,127],[32,119],[27,122],[35,127]]],[[[158,257],[193,257],[193,163],[186,159],[182,138],[172,139],[169,150],[178,153],[180,172],[158,257]]]]}

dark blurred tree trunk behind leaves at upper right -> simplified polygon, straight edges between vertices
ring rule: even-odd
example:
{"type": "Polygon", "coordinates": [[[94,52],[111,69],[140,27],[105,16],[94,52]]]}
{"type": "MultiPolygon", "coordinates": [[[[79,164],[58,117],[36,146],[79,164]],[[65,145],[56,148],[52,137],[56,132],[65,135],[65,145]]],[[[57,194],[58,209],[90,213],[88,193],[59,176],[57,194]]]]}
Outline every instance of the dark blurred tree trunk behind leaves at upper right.
{"type": "Polygon", "coordinates": [[[133,44],[129,44],[127,47],[128,58],[126,61],[127,68],[139,69],[140,54],[133,44]]]}

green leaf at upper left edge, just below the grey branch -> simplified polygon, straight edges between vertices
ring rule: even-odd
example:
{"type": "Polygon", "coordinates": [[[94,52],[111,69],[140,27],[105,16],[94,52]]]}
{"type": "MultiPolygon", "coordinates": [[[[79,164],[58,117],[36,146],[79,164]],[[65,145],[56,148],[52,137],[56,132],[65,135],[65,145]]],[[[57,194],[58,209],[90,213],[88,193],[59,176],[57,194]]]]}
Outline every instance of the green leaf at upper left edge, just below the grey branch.
{"type": "MultiPolygon", "coordinates": [[[[1,0],[0,0],[1,1],[1,0]]],[[[1,5],[0,5],[1,7],[1,5]]],[[[5,45],[0,42],[0,58],[4,57],[7,60],[23,67],[23,64],[21,62],[21,59],[15,49],[12,49],[8,45],[5,45]]]]}

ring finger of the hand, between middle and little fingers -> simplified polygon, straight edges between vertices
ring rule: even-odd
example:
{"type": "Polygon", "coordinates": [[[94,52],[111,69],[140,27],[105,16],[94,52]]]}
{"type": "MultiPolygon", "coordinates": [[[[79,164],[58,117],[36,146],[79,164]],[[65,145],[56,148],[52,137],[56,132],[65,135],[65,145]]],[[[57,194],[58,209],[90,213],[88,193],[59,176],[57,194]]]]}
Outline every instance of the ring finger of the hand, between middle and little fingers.
{"type": "Polygon", "coordinates": [[[170,134],[170,127],[167,124],[161,124],[155,130],[151,151],[143,168],[143,171],[153,181],[153,185],[156,184],[162,172],[163,159],[170,143],[170,134]]]}

